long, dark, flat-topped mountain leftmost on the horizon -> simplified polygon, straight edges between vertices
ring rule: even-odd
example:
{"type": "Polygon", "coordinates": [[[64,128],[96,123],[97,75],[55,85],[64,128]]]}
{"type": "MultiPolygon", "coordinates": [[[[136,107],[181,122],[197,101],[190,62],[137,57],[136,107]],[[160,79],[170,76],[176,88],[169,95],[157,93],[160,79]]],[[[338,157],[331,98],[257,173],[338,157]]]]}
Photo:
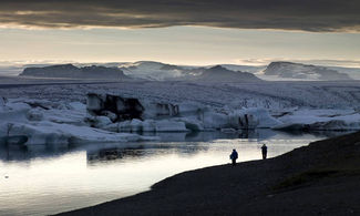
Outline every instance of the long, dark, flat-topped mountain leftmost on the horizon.
{"type": "Polygon", "coordinates": [[[100,79],[109,80],[128,79],[119,68],[105,66],[83,66],[78,68],[73,64],[60,64],[44,68],[25,68],[21,76],[35,76],[35,78],[66,78],[66,79],[100,79]]]}

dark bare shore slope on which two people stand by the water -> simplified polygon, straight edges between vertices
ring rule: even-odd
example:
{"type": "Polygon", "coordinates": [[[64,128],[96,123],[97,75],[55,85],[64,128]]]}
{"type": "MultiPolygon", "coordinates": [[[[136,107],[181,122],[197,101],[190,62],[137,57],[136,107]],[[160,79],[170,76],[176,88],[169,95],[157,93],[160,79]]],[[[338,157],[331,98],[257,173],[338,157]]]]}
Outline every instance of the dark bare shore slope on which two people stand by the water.
{"type": "Polygon", "coordinates": [[[150,192],[60,215],[357,215],[359,197],[360,132],[181,173],[150,192]]]}

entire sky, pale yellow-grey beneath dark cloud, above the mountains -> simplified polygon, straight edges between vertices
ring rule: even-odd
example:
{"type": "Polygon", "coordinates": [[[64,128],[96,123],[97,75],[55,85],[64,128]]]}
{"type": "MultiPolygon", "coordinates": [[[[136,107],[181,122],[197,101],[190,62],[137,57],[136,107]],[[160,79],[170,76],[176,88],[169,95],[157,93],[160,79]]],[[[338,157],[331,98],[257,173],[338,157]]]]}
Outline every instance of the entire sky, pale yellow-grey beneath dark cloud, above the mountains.
{"type": "Polygon", "coordinates": [[[3,0],[0,64],[360,66],[358,0],[3,0]]]}

